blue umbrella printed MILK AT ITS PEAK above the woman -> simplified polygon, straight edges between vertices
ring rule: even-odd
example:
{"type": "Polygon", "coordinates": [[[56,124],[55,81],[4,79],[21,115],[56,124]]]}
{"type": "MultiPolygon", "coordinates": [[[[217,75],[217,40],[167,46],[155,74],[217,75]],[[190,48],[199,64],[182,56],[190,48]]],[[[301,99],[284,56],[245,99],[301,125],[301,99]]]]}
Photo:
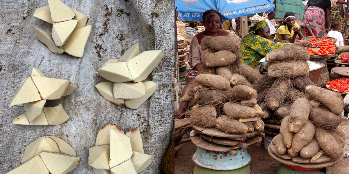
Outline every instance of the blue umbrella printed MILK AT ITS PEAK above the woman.
{"type": "MultiPolygon", "coordinates": [[[[183,21],[200,21],[202,13],[215,9],[223,15],[223,21],[255,13],[273,10],[274,0],[175,0],[178,18],[183,21]]],[[[284,0],[283,0],[284,1],[284,0]]]]}

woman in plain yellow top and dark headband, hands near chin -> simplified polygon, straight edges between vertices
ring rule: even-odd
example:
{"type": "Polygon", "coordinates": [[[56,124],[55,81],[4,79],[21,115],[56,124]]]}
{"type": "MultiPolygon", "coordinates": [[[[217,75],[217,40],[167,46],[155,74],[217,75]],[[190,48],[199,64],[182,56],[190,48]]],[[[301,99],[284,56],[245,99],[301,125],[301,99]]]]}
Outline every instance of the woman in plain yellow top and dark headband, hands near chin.
{"type": "Polygon", "coordinates": [[[295,22],[296,17],[295,14],[291,11],[287,12],[285,14],[285,22],[282,23],[276,31],[276,35],[274,39],[278,40],[287,40],[290,43],[295,42],[297,35],[299,36],[300,39],[302,39],[303,33],[300,32],[300,27],[295,22]]]}

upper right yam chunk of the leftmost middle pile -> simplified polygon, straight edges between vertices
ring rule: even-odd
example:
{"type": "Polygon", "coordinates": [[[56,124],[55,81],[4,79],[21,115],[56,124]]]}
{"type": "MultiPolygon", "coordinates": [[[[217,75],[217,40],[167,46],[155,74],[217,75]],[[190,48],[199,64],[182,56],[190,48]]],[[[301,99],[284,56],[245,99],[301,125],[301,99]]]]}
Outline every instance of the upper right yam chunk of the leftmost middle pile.
{"type": "Polygon", "coordinates": [[[70,80],[54,79],[40,76],[30,76],[40,96],[47,100],[57,100],[67,92],[70,80]]]}

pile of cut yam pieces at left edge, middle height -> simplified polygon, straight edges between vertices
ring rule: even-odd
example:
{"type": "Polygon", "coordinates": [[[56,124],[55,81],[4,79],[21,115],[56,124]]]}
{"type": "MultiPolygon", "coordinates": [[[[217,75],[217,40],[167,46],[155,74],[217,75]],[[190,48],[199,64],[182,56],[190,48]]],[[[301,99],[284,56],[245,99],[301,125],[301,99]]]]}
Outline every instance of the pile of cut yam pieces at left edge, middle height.
{"type": "Polygon", "coordinates": [[[75,87],[70,80],[48,78],[37,68],[31,76],[25,78],[12,98],[10,106],[24,106],[24,113],[12,120],[18,125],[59,125],[66,122],[69,116],[62,105],[44,107],[47,100],[57,100],[70,95],[75,87]]]}

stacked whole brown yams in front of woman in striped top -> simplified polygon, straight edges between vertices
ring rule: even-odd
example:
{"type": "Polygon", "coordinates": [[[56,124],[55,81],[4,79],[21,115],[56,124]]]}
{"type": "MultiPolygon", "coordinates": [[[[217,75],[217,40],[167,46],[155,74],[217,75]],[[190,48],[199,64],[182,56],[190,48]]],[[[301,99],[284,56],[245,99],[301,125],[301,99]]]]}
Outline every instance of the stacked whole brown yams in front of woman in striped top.
{"type": "Polygon", "coordinates": [[[261,74],[241,63],[238,38],[206,36],[201,49],[205,63],[180,98],[181,102],[190,101],[192,105],[187,113],[191,124],[216,127],[228,134],[262,130],[261,118],[265,113],[257,104],[257,91],[252,88],[261,74]]]}

